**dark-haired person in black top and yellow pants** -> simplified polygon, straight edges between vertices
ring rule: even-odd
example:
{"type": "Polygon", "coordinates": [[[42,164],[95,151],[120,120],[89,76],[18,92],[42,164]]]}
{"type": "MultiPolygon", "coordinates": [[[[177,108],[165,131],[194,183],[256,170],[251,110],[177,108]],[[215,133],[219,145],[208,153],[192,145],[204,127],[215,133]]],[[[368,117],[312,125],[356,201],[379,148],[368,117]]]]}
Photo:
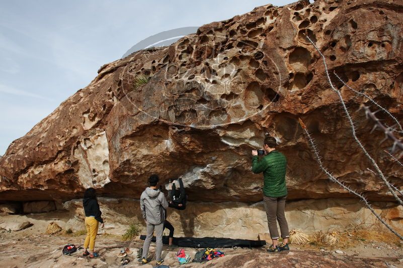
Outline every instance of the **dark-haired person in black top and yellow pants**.
{"type": "Polygon", "coordinates": [[[90,255],[90,258],[98,257],[99,254],[94,252],[95,239],[97,238],[98,226],[104,228],[104,220],[101,218],[101,210],[97,201],[97,196],[94,188],[88,188],[84,193],[83,199],[84,211],[86,213],[86,228],[87,237],[84,241],[83,256],[90,255]]]}

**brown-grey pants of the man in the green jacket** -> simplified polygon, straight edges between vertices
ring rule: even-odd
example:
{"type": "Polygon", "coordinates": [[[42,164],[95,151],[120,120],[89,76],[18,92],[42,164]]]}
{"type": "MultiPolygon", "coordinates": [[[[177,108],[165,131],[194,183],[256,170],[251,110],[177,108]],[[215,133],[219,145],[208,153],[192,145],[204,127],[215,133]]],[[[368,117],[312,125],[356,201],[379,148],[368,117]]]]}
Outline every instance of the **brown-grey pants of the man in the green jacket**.
{"type": "Polygon", "coordinates": [[[285,218],[285,199],[287,196],[282,197],[268,197],[264,196],[263,201],[267,215],[267,223],[269,224],[270,237],[278,239],[277,221],[280,225],[281,237],[286,238],[290,236],[288,231],[288,223],[285,218]]]}

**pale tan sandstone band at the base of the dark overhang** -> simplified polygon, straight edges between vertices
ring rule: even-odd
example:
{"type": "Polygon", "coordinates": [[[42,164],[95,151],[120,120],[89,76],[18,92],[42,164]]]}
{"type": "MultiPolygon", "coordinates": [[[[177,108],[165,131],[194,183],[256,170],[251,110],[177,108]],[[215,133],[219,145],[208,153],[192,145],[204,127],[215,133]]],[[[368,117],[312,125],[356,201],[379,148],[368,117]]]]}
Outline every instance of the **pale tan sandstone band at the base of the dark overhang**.
{"type": "MultiPolygon", "coordinates": [[[[100,228],[99,233],[122,235],[131,223],[140,223],[144,233],[145,224],[138,200],[98,198],[98,202],[105,221],[105,229],[100,228]]],[[[71,228],[73,231],[85,229],[82,200],[70,200],[63,205],[70,212],[66,228],[71,228]]],[[[401,207],[386,202],[375,203],[374,207],[393,228],[403,231],[401,207]]],[[[375,216],[353,198],[292,201],[287,203],[285,215],[290,230],[302,229],[307,234],[313,234],[318,230],[344,230],[355,226],[369,228],[377,222],[375,216]]],[[[260,237],[261,240],[270,237],[267,234],[267,216],[263,202],[255,204],[189,202],[186,210],[169,209],[167,219],[175,227],[175,236],[243,239],[260,237]]]]}

